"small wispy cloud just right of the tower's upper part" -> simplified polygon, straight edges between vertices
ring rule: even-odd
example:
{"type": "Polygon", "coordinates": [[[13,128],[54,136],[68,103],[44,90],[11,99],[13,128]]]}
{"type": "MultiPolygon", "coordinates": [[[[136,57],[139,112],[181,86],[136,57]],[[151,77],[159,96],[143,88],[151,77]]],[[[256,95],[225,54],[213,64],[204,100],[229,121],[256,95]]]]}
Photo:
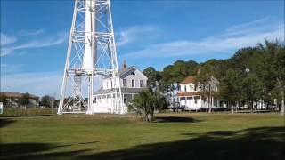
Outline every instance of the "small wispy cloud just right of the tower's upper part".
{"type": "Polygon", "coordinates": [[[131,28],[126,28],[118,33],[117,46],[123,46],[126,44],[133,43],[140,39],[140,37],[147,37],[151,35],[152,32],[157,31],[153,26],[134,26],[131,28]]]}

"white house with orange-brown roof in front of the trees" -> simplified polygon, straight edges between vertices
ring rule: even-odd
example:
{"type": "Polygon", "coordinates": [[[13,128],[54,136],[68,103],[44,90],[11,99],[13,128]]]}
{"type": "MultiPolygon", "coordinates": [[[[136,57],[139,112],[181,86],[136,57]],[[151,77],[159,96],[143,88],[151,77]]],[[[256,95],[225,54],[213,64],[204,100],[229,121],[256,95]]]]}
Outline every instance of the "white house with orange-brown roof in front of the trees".
{"type": "Polygon", "coordinates": [[[216,99],[214,96],[215,92],[218,90],[217,84],[216,78],[212,77],[206,84],[206,88],[212,91],[212,95],[203,96],[201,90],[203,85],[197,82],[195,76],[188,76],[180,83],[180,90],[178,92],[180,106],[184,107],[186,110],[206,110],[209,107],[213,109],[220,108],[220,100],[216,99]]]}

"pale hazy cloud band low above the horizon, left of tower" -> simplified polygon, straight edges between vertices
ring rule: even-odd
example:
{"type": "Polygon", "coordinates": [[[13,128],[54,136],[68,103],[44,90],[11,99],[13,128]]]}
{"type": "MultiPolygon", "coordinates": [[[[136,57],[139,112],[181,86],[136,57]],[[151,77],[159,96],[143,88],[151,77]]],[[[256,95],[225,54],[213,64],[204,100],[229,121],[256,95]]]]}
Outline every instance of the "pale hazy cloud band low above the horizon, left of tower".
{"type": "Polygon", "coordinates": [[[1,76],[2,92],[30,92],[39,96],[56,92],[59,94],[62,73],[23,73],[1,76]]]}

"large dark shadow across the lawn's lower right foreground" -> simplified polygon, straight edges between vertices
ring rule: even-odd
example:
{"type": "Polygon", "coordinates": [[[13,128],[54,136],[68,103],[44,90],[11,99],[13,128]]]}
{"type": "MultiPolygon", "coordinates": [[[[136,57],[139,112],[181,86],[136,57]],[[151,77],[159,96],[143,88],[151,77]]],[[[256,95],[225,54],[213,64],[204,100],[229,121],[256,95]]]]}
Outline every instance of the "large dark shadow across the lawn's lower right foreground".
{"type": "Polygon", "coordinates": [[[162,142],[130,149],[80,156],[82,159],[282,159],[283,127],[200,134],[189,140],[162,142]]]}

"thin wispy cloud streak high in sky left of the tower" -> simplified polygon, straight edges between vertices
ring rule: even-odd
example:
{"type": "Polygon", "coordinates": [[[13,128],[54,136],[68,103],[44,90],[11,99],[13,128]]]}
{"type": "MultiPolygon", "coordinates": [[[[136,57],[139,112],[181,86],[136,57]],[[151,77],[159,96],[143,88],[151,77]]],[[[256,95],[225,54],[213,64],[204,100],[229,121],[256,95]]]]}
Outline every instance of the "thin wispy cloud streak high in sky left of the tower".
{"type": "Polygon", "coordinates": [[[1,57],[7,56],[9,54],[12,54],[15,50],[23,50],[23,49],[30,49],[30,48],[42,48],[42,47],[48,47],[53,45],[58,45],[64,43],[68,38],[67,34],[59,34],[57,36],[53,37],[47,37],[47,38],[41,38],[29,41],[24,44],[17,44],[9,47],[3,47],[1,48],[1,57]]]}

